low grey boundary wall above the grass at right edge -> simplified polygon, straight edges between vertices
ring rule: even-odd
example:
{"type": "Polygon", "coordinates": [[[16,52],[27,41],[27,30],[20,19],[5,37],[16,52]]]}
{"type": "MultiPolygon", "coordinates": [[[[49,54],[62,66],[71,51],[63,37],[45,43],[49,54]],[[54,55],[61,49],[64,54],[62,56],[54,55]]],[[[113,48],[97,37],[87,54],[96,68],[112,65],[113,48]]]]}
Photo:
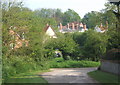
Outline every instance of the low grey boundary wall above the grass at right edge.
{"type": "Polygon", "coordinates": [[[109,60],[102,60],[100,69],[102,71],[120,75],[120,64],[119,63],[111,62],[109,60]]]}

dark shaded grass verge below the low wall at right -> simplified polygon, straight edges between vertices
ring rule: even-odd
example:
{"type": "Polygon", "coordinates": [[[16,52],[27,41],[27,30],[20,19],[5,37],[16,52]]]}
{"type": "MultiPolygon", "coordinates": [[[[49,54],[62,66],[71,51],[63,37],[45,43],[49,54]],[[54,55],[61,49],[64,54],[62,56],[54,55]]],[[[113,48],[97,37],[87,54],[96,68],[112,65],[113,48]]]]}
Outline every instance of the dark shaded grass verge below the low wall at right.
{"type": "Polygon", "coordinates": [[[120,85],[120,76],[115,74],[96,70],[89,72],[88,75],[102,83],[102,85],[120,85]]]}

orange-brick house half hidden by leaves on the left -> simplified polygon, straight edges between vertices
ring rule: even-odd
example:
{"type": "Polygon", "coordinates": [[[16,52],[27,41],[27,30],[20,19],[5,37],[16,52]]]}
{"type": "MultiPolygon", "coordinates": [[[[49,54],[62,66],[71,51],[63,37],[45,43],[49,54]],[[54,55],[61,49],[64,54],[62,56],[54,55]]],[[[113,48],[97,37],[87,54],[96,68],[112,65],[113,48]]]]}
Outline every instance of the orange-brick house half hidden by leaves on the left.
{"type": "Polygon", "coordinates": [[[28,46],[28,40],[25,39],[24,36],[24,32],[20,34],[18,34],[14,29],[16,29],[16,27],[10,27],[9,28],[9,35],[11,36],[11,41],[10,43],[10,48],[11,49],[18,49],[21,48],[23,46],[27,47],[28,46]]]}

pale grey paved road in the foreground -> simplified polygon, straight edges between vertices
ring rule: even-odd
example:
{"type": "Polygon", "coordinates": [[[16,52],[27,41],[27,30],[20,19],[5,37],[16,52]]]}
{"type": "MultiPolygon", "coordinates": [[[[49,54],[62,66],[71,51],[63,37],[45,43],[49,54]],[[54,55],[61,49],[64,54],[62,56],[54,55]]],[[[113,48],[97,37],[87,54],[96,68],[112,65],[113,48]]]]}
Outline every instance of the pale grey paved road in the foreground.
{"type": "Polygon", "coordinates": [[[97,68],[53,68],[51,72],[43,73],[41,76],[48,83],[98,83],[90,78],[87,73],[97,68]]]}

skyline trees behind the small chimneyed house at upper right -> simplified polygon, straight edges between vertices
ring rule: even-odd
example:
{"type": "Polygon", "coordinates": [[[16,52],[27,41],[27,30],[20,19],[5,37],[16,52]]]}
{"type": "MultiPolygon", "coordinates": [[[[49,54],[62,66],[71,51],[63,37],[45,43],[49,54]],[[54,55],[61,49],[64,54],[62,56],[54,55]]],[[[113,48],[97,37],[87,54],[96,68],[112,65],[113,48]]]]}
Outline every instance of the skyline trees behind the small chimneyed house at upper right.
{"type": "Polygon", "coordinates": [[[91,11],[84,15],[82,22],[86,23],[88,28],[94,28],[96,25],[100,26],[100,23],[103,26],[106,26],[106,21],[108,21],[108,27],[114,28],[116,27],[118,20],[113,11],[116,11],[115,5],[110,3],[105,4],[105,9],[102,9],[101,12],[91,11]]]}

